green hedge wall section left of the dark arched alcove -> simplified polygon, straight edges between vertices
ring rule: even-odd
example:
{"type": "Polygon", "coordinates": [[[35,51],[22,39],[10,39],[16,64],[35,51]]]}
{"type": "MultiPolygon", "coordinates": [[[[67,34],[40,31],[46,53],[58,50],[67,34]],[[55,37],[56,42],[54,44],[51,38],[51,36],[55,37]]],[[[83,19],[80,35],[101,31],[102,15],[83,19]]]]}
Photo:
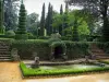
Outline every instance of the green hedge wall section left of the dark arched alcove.
{"type": "Polygon", "coordinates": [[[49,46],[47,40],[43,39],[28,39],[28,40],[14,40],[11,48],[17,48],[21,59],[33,59],[33,52],[36,51],[40,59],[48,59],[49,46]]]}

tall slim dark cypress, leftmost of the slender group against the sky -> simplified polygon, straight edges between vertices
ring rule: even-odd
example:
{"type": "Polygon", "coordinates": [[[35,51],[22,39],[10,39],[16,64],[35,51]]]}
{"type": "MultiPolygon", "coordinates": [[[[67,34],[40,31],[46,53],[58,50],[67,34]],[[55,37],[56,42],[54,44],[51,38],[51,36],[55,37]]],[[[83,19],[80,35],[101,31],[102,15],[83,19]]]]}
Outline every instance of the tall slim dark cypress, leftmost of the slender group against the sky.
{"type": "Polygon", "coordinates": [[[41,20],[40,20],[40,36],[45,35],[45,3],[43,5],[41,20]]]}

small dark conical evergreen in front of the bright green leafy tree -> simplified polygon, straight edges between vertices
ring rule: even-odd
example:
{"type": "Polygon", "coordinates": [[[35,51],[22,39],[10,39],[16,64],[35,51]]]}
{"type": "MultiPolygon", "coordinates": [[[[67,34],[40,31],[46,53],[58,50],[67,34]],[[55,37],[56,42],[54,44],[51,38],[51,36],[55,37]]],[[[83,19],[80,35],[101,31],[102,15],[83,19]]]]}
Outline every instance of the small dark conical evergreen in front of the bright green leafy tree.
{"type": "Polygon", "coordinates": [[[73,25],[73,35],[72,35],[72,40],[73,42],[78,42],[80,37],[78,37],[78,27],[77,27],[77,19],[74,20],[74,25],[73,25]]]}

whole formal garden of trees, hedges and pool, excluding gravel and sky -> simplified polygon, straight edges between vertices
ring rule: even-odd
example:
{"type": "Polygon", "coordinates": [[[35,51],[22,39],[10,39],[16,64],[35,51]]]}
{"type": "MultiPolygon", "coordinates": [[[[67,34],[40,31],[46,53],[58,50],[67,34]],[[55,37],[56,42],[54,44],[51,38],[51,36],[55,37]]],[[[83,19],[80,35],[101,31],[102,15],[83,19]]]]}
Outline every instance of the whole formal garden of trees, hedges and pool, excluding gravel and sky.
{"type": "Polygon", "coordinates": [[[19,15],[9,7],[0,0],[0,61],[19,61],[23,78],[109,72],[108,0],[66,0],[60,13],[49,3],[47,15],[44,3],[40,21],[27,15],[23,0],[19,15]],[[71,4],[86,7],[70,10],[71,4]]]}

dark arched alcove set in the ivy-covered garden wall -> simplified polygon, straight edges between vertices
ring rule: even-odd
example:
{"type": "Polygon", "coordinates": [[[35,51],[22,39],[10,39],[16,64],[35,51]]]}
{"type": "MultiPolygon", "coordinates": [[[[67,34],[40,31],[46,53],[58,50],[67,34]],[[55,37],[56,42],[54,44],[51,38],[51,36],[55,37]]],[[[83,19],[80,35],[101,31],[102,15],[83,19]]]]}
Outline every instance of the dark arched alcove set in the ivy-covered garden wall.
{"type": "Polygon", "coordinates": [[[50,60],[57,60],[57,59],[64,59],[66,60],[68,56],[66,52],[66,46],[63,42],[53,42],[51,45],[51,55],[50,60]]]}

